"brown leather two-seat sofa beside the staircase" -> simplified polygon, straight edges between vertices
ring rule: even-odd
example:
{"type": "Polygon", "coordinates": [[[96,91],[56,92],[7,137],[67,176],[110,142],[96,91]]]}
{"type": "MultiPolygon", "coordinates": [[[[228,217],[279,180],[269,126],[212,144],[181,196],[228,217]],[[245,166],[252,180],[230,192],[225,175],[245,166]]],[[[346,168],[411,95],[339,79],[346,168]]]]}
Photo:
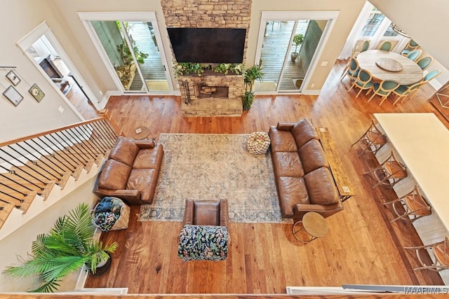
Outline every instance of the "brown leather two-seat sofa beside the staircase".
{"type": "Polygon", "coordinates": [[[151,204],[162,159],[161,144],[120,136],[98,174],[93,193],[119,197],[128,204],[151,204]]]}

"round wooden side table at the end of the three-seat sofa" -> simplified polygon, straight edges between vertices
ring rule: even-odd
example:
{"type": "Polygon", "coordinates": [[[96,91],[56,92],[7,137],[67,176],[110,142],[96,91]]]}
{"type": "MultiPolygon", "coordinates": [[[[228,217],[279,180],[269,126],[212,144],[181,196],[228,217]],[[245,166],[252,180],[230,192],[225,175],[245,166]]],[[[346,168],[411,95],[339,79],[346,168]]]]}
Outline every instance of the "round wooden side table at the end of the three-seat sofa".
{"type": "Polygon", "coordinates": [[[293,224],[292,232],[295,239],[302,243],[309,243],[316,238],[324,237],[328,233],[329,227],[326,219],[314,211],[309,211],[304,216],[302,216],[301,220],[298,220],[293,224]],[[301,227],[302,226],[302,227],[301,227]],[[299,236],[299,232],[304,228],[304,231],[307,232],[307,235],[310,236],[309,239],[302,239],[299,236]]]}

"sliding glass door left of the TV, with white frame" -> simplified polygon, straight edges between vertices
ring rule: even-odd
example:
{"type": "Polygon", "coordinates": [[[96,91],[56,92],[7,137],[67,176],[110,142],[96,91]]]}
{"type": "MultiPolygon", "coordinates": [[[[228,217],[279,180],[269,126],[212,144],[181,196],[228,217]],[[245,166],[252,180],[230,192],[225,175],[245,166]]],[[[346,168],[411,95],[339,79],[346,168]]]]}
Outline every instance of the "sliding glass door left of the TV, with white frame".
{"type": "Polygon", "coordinates": [[[79,17],[123,92],[173,92],[154,12],[79,17]]]}

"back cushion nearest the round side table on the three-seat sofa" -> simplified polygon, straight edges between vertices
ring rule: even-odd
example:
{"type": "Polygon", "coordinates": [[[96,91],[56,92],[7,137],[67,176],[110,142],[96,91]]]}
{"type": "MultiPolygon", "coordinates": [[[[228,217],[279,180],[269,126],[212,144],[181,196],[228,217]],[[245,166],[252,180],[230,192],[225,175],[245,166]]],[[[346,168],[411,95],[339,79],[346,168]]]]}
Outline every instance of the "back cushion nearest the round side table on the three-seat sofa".
{"type": "Polygon", "coordinates": [[[311,204],[334,204],[338,202],[338,191],[330,170],[321,167],[304,176],[311,204]]]}

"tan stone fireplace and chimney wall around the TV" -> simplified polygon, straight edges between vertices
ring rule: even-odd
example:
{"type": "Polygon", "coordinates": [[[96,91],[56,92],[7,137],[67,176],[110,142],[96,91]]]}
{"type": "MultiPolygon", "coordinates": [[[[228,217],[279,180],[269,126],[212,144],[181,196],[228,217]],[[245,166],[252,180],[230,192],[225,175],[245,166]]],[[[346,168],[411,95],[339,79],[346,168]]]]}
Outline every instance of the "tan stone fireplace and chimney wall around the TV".
{"type": "MultiPolygon", "coordinates": [[[[167,27],[244,28],[248,37],[251,0],[161,0],[161,5],[167,27]]],[[[243,62],[246,48],[245,42],[243,62]]],[[[206,73],[178,76],[182,116],[241,116],[243,76],[206,73]]]]}

